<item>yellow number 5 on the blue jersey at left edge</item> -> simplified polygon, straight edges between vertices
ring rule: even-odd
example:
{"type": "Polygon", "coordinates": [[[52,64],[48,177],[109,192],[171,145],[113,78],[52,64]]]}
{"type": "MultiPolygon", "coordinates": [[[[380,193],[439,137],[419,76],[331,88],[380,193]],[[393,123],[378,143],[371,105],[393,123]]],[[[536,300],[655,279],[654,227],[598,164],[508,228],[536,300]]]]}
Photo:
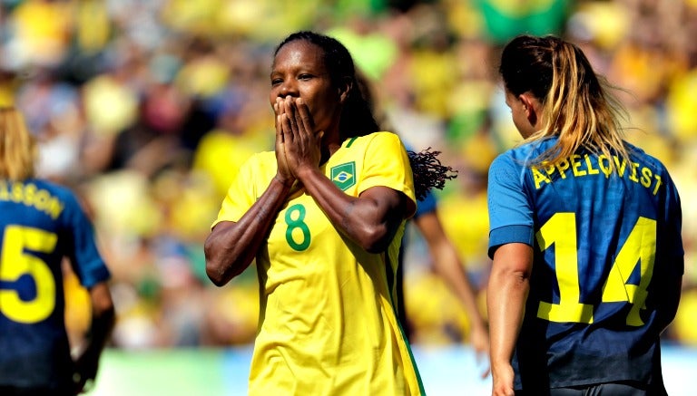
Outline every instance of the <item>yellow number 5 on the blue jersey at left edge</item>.
{"type": "Polygon", "coordinates": [[[36,285],[36,296],[33,300],[25,301],[16,290],[0,289],[0,313],[15,322],[34,324],[54,312],[54,275],[44,260],[28,254],[26,250],[50,253],[54,251],[57,240],[54,233],[42,229],[5,227],[0,280],[16,282],[22,275],[29,275],[36,285]]]}

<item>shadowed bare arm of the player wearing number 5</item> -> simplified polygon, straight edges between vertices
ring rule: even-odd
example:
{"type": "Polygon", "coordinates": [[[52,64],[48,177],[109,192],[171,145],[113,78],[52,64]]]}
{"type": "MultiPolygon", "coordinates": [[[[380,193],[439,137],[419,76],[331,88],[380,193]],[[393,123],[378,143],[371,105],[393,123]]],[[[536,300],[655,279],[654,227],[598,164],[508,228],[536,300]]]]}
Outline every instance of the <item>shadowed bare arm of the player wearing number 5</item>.
{"type": "Polygon", "coordinates": [[[87,334],[83,352],[75,359],[78,376],[75,378],[77,391],[86,391],[85,383],[97,375],[99,358],[112,334],[115,323],[112,295],[106,282],[90,289],[92,302],[92,324],[87,334]]]}

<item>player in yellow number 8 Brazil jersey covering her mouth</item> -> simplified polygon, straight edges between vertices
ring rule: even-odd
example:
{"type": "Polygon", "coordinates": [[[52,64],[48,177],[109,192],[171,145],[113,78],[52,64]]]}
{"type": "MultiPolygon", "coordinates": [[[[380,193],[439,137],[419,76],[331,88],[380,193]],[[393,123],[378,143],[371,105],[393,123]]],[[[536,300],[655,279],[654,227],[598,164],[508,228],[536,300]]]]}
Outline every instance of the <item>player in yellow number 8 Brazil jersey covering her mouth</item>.
{"type": "Polygon", "coordinates": [[[280,43],[270,104],[275,152],[241,167],[205,243],[215,285],[256,259],[250,395],[423,394],[394,303],[420,195],[407,150],[379,131],[348,50],[328,36],[280,43]]]}

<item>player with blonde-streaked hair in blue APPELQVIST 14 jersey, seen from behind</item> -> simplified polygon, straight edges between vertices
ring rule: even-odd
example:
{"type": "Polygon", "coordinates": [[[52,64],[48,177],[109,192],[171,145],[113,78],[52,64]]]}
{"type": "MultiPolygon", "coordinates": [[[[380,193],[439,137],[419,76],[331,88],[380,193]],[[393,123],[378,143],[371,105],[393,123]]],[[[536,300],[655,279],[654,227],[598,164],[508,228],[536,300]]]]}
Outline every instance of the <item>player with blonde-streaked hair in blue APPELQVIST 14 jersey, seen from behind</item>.
{"type": "Polygon", "coordinates": [[[665,394],[683,272],[668,171],[623,140],[622,107],[573,43],[519,36],[499,72],[524,140],[489,169],[492,394],[665,394]]]}

